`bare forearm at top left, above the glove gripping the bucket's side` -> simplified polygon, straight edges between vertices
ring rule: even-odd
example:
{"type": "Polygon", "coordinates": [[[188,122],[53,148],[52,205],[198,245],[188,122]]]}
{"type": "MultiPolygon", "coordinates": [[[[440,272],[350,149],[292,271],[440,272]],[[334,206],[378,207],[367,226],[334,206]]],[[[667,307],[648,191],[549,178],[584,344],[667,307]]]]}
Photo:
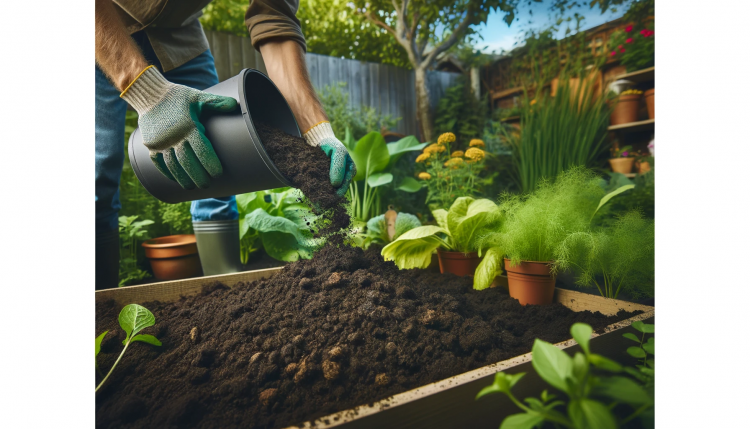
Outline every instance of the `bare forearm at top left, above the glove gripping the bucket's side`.
{"type": "Polygon", "coordinates": [[[125,30],[112,0],[96,0],[96,63],[123,91],[148,66],[125,30]]]}

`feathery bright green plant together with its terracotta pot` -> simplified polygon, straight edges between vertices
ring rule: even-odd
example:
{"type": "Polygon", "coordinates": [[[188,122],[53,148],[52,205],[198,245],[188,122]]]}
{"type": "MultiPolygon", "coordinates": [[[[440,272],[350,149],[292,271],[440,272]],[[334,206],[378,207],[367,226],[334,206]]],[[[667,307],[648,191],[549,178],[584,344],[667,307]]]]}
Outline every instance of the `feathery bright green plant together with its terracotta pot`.
{"type": "Polygon", "coordinates": [[[488,288],[504,267],[510,296],[523,304],[549,304],[555,291],[556,249],[577,231],[590,227],[594,214],[612,197],[633,185],[604,195],[599,178],[583,167],[543,180],[527,195],[503,194],[478,242],[484,259],[474,275],[474,289],[488,288]],[[597,205],[598,202],[598,205],[597,205]]]}

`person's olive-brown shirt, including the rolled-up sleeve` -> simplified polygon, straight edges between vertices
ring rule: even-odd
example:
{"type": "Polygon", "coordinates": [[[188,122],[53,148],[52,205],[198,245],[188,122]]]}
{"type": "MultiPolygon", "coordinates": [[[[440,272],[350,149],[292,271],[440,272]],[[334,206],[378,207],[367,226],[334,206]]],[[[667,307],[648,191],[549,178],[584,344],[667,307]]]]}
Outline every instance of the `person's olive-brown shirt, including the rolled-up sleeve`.
{"type": "MultiPolygon", "coordinates": [[[[167,72],[208,50],[198,18],[211,0],[112,0],[130,34],[143,30],[167,72]],[[119,7],[118,7],[119,6],[119,7]]],[[[299,20],[299,0],[249,0],[245,25],[258,46],[271,38],[291,39],[307,50],[299,20]]]]}

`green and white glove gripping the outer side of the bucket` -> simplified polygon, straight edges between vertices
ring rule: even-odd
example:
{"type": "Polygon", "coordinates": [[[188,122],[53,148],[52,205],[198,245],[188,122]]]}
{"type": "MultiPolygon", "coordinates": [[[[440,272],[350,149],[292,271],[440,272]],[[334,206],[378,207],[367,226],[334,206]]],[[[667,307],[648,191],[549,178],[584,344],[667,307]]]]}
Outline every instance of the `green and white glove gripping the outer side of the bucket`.
{"type": "Polygon", "coordinates": [[[138,112],[143,144],[151,161],[185,189],[207,188],[222,174],[221,162],[198,121],[203,109],[231,112],[237,101],[167,81],[147,67],[120,97],[138,112]]]}

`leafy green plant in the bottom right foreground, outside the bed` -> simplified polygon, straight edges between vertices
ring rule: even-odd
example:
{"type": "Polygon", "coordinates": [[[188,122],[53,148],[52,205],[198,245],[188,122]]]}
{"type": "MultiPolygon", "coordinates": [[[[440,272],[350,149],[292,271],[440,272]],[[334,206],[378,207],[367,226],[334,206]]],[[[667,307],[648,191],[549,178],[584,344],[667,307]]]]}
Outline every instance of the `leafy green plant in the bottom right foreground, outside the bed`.
{"type": "Polygon", "coordinates": [[[519,401],[511,390],[526,375],[523,372],[498,372],[492,385],[477,394],[476,399],[492,393],[504,393],[524,411],[506,417],[500,429],[532,429],[541,427],[544,422],[550,422],[555,427],[614,429],[636,418],[653,426],[653,391],[632,378],[617,375],[623,372],[631,374],[633,371],[627,371],[623,365],[591,352],[591,326],[576,323],[571,326],[570,333],[583,353],[577,352],[571,358],[563,350],[540,339],[534,341],[531,352],[531,363],[536,373],[550,386],[563,392],[567,401],[556,400],[555,395],[547,390],[542,392],[539,399],[526,398],[525,404],[519,401]],[[621,414],[625,417],[618,418],[621,414]]]}

